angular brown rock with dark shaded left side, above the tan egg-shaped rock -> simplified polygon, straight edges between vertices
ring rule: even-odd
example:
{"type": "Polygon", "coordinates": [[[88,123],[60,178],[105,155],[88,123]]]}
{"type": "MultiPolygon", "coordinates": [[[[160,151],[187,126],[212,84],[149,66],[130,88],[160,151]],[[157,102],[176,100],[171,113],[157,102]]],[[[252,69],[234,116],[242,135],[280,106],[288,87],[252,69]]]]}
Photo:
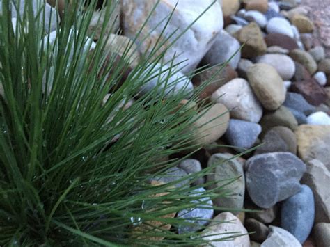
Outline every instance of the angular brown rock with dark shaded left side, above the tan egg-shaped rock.
{"type": "Polygon", "coordinates": [[[243,58],[253,58],[266,53],[267,45],[256,22],[251,22],[249,25],[239,29],[239,31],[234,33],[234,37],[241,44],[244,44],[242,48],[243,58]]]}

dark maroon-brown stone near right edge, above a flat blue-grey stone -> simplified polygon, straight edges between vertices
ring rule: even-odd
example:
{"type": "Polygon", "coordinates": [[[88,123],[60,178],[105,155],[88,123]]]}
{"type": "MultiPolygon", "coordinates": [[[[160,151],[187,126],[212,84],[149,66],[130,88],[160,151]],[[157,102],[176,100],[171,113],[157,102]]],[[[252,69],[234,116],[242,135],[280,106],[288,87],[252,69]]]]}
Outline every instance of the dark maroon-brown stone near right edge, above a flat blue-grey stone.
{"type": "Polygon", "coordinates": [[[328,99],[327,92],[313,78],[304,81],[294,81],[291,90],[295,93],[300,93],[313,106],[327,102],[328,99]]]}

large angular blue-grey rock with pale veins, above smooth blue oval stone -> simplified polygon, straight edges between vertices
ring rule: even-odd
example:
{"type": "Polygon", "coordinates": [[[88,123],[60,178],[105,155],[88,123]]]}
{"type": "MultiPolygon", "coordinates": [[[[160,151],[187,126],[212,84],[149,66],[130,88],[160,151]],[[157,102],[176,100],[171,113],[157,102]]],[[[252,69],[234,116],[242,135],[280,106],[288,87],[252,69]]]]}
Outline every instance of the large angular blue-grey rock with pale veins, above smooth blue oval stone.
{"type": "Polygon", "coordinates": [[[290,152],[258,154],[246,161],[246,187],[258,207],[269,208],[299,192],[306,165],[290,152]]]}

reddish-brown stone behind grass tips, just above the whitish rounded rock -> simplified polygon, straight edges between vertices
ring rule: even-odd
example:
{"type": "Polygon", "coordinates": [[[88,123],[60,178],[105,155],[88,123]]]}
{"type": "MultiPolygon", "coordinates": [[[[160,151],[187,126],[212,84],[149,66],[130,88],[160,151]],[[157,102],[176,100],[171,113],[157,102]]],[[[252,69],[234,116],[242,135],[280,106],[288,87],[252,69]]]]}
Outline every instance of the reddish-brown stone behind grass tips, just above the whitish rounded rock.
{"type": "Polygon", "coordinates": [[[233,70],[230,65],[223,67],[223,69],[219,72],[222,65],[214,66],[208,70],[201,72],[201,74],[197,74],[193,79],[192,83],[194,86],[201,86],[203,83],[209,83],[205,88],[203,88],[200,93],[201,99],[205,99],[210,97],[214,91],[218,88],[226,84],[228,81],[237,78],[237,72],[233,70]],[[212,81],[209,81],[212,77],[212,81]]]}

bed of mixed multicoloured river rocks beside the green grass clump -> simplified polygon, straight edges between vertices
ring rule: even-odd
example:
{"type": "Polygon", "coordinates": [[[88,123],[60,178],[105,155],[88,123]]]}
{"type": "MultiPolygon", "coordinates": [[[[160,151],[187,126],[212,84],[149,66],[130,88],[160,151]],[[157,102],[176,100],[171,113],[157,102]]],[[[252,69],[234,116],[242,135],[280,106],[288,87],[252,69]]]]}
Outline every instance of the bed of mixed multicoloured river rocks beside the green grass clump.
{"type": "MultiPolygon", "coordinates": [[[[160,1],[155,10],[157,15],[150,17],[143,34],[147,35],[171,13],[175,3],[160,1]]],[[[182,31],[210,3],[211,0],[179,1],[168,29],[182,31]]],[[[111,35],[111,49],[115,49],[113,44],[127,44],[129,38],[134,38],[153,4],[153,1],[145,4],[137,0],[122,1],[120,25],[125,36],[111,35]]],[[[233,191],[232,197],[205,198],[205,204],[260,210],[214,212],[205,207],[178,212],[177,217],[201,218],[196,221],[195,228],[182,226],[179,233],[198,231],[213,218],[235,224],[211,223],[203,235],[256,232],[224,243],[214,242],[214,246],[329,244],[330,58],[326,58],[324,47],[313,46],[311,33],[315,26],[307,14],[308,10],[295,0],[219,1],[166,52],[167,61],[174,54],[181,54],[175,59],[177,62],[187,59],[186,66],[170,78],[171,81],[181,77],[182,83],[168,88],[166,93],[175,94],[182,88],[192,92],[194,86],[214,77],[200,96],[216,104],[206,114],[201,113],[196,126],[221,117],[196,132],[197,144],[202,145],[203,150],[168,170],[171,176],[160,177],[159,182],[175,181],[178,177],[219,164],[214,173],[194,181],[194,184],[214,181],[214,187],[204,188],[214,189],[222,186],[224,179],[239,179],[228,185],[233,191]],[[244,47],[235,54],[242,44],[244,47]],[[232,56],[228,65],[218,73],[219,64],[232,56]],[[196,66],[205,64],[214,67],[191,80],[186,77],[196,66]],[[235,148],[210,148],[214,143],[235,148]],[[260,143],[263,145],[246,154],[244,159],[233,159],[233,154],[260,143]]],[[[91,30],[95,28],[97,26],[92,24],[91,30]]],[[[145,52],[148,45],[155,44],[161,31],[162,25],[148,36],[146,42],[139,44],[139,50],[145,52]]],[[[117,47],[114,52],[120,55],[120,51],[117,47]]],[[[132,66],[139,61],[139,53],[133,55],[132,66]]],[[[160,69],[156,66],[156,70],[160,69]]],[[[141,93],[148,93],[155,83],[150,81],[141,93]]],[[[187,183],[189,181],[176,186],[186,186],[187,183]]],[[[212,237],[207,238],[212,240],[212,237]]]]}

